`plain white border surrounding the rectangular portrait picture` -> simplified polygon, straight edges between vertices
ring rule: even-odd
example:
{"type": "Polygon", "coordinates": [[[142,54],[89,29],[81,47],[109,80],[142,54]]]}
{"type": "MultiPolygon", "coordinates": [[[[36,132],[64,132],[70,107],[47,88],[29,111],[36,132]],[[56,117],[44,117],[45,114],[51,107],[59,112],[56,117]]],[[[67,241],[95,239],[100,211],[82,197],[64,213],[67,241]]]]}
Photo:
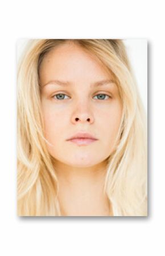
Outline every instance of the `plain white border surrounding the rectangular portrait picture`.
{"type": "Polygon", "coordinates": [[[164,255],[163,1],[6,1],[1,24],[1,255],[164,255]],[[149,216],[16,216],[16,40],[148,40],[149,216]]]}

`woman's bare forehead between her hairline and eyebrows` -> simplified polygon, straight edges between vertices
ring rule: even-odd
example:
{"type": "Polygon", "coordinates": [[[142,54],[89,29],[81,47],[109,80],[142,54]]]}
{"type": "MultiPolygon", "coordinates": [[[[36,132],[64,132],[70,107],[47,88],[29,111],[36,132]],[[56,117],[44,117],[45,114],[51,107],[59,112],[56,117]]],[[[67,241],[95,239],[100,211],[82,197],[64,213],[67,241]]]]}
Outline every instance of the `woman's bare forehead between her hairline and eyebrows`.
{"type": "Polygon", "coordinates": [[[64,43],[44,56],[39,76],[47,80],[101,80],[112,78],[112,73],[92,52],[75,43],[64,43]]]}

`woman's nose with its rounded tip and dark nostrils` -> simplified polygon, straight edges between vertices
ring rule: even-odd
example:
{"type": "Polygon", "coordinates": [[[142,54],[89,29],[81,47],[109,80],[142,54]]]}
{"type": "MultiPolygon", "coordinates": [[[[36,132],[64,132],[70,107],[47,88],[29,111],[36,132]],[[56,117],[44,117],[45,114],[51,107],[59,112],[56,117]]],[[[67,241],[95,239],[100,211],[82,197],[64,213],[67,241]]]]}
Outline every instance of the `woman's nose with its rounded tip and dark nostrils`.
{"type": "Polygon", "coordinates": [[[80,106],[76,109],[75,112],[73,112],[72,115],[72,123],[89,123],[92,124],[94,121],[93,115],[91,111],[89,111],[89,108],[87,108],[87,105],[80,106]]]}

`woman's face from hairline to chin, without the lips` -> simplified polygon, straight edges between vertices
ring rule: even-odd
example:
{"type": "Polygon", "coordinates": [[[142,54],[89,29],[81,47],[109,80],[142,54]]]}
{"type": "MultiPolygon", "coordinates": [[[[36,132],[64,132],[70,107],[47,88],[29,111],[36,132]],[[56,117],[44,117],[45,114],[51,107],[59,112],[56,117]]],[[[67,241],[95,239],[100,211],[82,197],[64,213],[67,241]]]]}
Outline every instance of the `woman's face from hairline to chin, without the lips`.
{"type": "Polygon", "coordinates": [[[93,166],[109,157],[122,104],[108,70],[83,48],[67,42],[44,57],[39,75],[44,132],[51,156],[75,167],[93,166]],[[99,83],[105,80],[109,82],[99,83]],[[97,140],[90,144],[67,141],[78,132],[90,133],[97,140]]]}

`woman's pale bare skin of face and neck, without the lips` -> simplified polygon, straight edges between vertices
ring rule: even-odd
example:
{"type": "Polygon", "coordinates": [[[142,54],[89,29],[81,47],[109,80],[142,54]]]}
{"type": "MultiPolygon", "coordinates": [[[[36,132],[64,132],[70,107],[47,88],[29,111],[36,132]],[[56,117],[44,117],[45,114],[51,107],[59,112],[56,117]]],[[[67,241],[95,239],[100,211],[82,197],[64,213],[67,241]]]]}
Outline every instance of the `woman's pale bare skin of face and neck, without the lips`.
{"type": "Polygon", "coordinates": [[[44,57],[39,76],[44,132],[51,144],[48,152],[55,159],[61,215],[113,216],[103,192],[106,159],[114,150],[122,115],[112,75],[96,57],[67,42],[44,57]],[[109,82],[94,86],[102,80],[109,82]],[[77,132],[89,132],[98,140],[83,146],[66,141],[77,132]]]}

